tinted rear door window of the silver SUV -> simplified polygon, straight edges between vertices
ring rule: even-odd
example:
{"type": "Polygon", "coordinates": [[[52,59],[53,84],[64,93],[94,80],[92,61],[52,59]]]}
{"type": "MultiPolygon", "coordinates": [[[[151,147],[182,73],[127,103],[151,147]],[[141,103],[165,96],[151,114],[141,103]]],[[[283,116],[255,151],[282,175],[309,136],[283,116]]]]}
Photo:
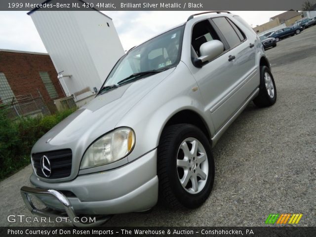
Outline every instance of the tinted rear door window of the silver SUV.
{"type": "Polygon", "coordinates": [[[212,18],[215,25],[221,31],[231,48],[241,42],[233,26],[229,23],[226,17],[212,18]]]}

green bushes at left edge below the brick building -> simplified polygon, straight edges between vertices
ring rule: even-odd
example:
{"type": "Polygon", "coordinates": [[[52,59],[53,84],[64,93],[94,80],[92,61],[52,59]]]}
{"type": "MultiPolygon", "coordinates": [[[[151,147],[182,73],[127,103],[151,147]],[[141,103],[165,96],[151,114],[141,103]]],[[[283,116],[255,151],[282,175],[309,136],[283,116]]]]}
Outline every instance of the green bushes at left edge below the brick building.
{"type": "Polygon", "coordinates": [[[0,180],[31,163],[31,149],[36,141],[76,110],[11,120],[6,116],[7,110],[0,107],[0,180]]]}

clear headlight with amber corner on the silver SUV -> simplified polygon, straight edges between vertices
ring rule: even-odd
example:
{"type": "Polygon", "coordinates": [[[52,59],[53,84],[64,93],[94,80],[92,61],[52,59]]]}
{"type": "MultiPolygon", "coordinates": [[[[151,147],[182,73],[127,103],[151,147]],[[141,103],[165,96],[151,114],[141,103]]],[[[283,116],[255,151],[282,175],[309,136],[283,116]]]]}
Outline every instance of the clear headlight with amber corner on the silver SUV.
{"type": "Polygon", "coordinates": [[[85,151],[80,169],[109,164],[126,157],[135,145],[131,128],[120,127],[94,141],[85,151]]]}

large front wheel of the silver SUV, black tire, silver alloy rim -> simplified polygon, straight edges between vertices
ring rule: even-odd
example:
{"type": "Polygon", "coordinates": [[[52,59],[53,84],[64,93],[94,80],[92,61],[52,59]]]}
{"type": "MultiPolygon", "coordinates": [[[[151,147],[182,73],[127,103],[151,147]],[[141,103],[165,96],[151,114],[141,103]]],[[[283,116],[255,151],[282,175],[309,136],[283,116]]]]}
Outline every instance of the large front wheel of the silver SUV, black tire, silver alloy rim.
{"type": "Polygon", "coordinates": [[[160,137],[157,163],[159,200],[167,206],[197,208],[210,195],[214,159],[208,139],[196,126],[182,123],[166,127],[160,137]]]}

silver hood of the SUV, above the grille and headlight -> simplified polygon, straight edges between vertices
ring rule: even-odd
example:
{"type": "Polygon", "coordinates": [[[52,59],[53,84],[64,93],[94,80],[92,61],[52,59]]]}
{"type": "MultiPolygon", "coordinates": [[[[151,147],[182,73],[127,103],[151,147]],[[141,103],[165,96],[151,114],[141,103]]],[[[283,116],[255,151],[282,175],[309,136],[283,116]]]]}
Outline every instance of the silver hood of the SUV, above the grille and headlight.
{"type": "Polygon", "coordinates": [[[174,69],[127,83],[96,96],[43,135],[34,145],[32,153],[64,148],[78,150],[78,146],[86,149],[95,139],[113,130],[118,121],[174,69]]]}

